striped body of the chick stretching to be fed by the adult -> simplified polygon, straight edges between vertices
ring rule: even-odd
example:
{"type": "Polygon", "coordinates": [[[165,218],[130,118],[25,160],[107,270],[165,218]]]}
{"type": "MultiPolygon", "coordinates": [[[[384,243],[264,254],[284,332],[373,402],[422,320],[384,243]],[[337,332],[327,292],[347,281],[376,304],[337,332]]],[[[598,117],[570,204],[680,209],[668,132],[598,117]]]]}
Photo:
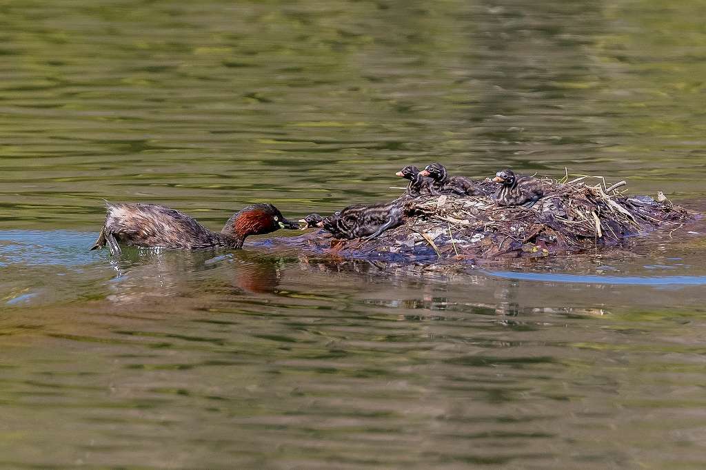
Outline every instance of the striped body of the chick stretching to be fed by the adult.
{"type": "Polygon", "coordinates": [[[397,203],[349,205],[330,217],[321,227],[337,239],[371,240],[402,223],[404,210],[397,203]]]}

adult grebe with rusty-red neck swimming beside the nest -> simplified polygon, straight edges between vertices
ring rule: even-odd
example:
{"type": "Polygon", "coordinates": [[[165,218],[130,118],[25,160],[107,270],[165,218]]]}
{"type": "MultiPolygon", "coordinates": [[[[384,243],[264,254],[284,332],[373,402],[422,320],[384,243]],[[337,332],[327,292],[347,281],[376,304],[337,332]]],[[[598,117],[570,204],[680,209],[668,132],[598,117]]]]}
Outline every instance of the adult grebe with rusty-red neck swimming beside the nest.
{"type": "Polygon", "coordinates": [[[272,204],[253,204],[236,212],[220,232],[213,232],[178,210],[163,205],[107,203],[105,223],[91,250],[108,245],[119,255],[120,243],[129,246],[198,250],[242,248],[249,235],[269,234],[278,229],[297,229],[272,204]]]}

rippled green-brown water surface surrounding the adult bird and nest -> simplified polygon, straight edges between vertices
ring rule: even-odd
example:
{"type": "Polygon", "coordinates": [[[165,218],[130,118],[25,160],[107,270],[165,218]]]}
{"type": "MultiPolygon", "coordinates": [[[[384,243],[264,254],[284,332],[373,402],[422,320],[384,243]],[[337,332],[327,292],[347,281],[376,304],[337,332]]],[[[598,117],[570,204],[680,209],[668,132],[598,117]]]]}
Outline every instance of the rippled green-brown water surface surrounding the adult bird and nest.
{"type": "MultiPolygon", "coordinates": [[[[706,204],[706,5],[0,4],[0,466],[703,468],[706,224],[384,272],[253,239],[88,251],[103,199],[213,229],[445,162],[706,204]]],[[[277,234],[279,235],[279,233],[277,234]]]]}

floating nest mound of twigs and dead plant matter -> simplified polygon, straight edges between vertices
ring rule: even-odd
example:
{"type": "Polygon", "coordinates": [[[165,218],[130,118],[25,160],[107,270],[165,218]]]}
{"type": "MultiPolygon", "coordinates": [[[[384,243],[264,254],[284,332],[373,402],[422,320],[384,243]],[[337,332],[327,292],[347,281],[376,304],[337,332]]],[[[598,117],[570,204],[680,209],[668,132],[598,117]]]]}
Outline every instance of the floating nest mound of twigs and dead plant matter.
{"type": "MultiPolygon", "coordinates": [[[[545,195],[533,207],[503,207],[486,195],[401,196],[404,222],[372,240],[339,240],[324,231],[303,237],[305,247],[342,258],[385,262],[481,263],[508,257],[541,258],[619,246],[635,236],[678,229],[696,214],[657,199],[626,195],[621,181],[594,186],[593,176],[568,182],[544,179],[545,195]]],[[[568,177],[565,181],[568,180],[568,177]]]]}

